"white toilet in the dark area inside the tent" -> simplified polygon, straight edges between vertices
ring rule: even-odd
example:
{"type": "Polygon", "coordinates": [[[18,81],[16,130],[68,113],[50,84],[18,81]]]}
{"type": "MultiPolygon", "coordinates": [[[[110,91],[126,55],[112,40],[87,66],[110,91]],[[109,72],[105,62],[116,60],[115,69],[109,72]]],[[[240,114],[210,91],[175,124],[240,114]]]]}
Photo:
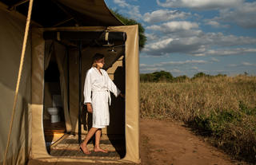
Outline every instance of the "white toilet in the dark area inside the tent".
{"type": "Polygon", "coordinates": [[[61,119],[59,112],[62,109],[62,96],[53,95],[53,107],[47,108],[47,111],[50,113],[50,122],[58,123],[61,119]]]}

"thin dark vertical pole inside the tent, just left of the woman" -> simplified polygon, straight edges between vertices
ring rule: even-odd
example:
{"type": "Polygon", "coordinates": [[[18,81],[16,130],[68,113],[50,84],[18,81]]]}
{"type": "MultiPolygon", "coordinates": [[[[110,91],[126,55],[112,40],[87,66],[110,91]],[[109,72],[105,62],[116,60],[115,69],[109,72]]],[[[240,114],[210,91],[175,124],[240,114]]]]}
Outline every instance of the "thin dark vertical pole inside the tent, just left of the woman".
{"type": "Polygon", "coordinates": [[[79,51],[79,112],[78,112],[78,143],[82,142],[81,139],[81,112],[82,112],[82,83],[81,83],[81,77],[82,77],[82,41],[79,41],[78,45],[78,51],[79,51]]]}

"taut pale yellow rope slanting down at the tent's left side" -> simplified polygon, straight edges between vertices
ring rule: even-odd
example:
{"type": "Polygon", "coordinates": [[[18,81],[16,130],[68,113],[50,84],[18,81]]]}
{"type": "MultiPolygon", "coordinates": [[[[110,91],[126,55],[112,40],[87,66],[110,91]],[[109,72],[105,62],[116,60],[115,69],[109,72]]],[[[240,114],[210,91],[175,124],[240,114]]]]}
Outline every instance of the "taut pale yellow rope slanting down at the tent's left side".
{"type": "Polygon", "coordinates": [[[18,98],[18,89],[19,89],[19,84],[20,84],[21,77],[22,77],[22,69],[23,69],[24,57],[25,57],[25,52],[26,52],[26,41],[27,41],[29,29],[30,29],[30,18],[31,18],[31,13],[32,13],[33,1],[34,0],[30,0],[30,6],[29,6],[27,18],[26,18],[26,29],[25,29],[24,40],[23,40],[23,45],[22,45],[22,56],[21,56],[21,61],[20,61],[19,69],[18,69],[18,81],[16,84],[16,91],[15,91],[15,95],[14,95],[14,105],[13,105],[13,109],[12,109],[12,116],[11,116],[11,120],[10,120],[10,127],[9,127],[9,132],[8,132],[7,143],[6,143],[6,151],[5,151],[5,155],[4,155],[4,159],[3,159],[3,165],[6,165],[7,153],[8,153],[8,148],[10,145],[10,135],[11,135],[11,131],[13,128],[14,114],[15,114],[15,108],[17,105],[17,98],[18,98]]]}

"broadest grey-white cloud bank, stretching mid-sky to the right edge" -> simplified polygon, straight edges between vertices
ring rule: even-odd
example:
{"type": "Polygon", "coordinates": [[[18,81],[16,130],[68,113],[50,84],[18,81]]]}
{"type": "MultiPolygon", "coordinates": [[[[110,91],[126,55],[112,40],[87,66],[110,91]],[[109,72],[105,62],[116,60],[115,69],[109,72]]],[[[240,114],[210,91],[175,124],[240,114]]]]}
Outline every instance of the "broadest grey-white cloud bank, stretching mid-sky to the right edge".
{"type": "Polygon", "coordinates": [[[154,40],[146,43],[142,52],[152,56],[162,56],[170,53],[185,53],[192,56],[206,55],[237,55],[255,53],[256,44],[254,37],[237,37],[223,33],[203,33],[197,30],[183,30],[176,33],[165,33],[156,36],[154,40]],[[190,35],[187,35],[190,32],[190,35]],[[242,48],[245,46],[246,48],[242,48]],[[238,48],[232,48],[236,46],[238,48]],[[250,46],[250,47],[249,47],[250,46]],[[225,48],[225,49],[223,49],[225,48]]]}

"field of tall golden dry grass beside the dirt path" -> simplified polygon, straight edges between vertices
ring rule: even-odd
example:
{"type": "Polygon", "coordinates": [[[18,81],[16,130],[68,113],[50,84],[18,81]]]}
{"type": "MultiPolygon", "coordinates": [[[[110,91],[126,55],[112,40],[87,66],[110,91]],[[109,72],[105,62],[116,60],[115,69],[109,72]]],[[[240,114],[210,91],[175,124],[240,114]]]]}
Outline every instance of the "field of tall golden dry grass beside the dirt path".
{"type": "Polygon", "coordinates": [[[238,159],[256,162],[256,77],[141,83],[142,118],[182,120],[238,159]]]}

